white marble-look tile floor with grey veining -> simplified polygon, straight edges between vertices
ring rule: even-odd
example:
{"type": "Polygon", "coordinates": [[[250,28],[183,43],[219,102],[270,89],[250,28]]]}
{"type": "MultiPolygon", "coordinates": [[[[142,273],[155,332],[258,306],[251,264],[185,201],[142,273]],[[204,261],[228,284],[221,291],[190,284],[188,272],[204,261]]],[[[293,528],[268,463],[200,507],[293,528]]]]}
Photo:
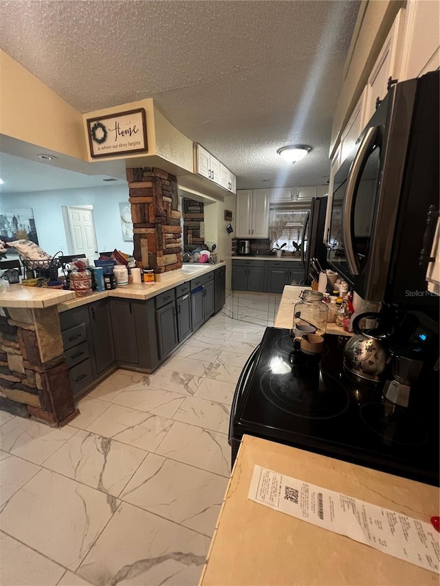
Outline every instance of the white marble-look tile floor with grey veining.
{"type": "Polygon", "coordinates": [[[113,373],[63,429],[0,412],[0,584],[197,585],[264,330],[219,313],[153,374],[113,373]]]}

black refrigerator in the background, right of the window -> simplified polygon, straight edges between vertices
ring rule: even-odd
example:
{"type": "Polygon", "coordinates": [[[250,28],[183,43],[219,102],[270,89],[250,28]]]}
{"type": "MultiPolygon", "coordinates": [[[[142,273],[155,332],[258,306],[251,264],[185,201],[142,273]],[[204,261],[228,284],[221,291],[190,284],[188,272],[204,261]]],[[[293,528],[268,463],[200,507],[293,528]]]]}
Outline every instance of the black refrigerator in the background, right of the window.
{"type": "Polygon", "coordinates": [[[304,284],[311,284],[310,259],[317,258],[322,269],[327,268],[327,247],[324,244],[325,213],[327,211],[327,195],[314,197],[310,210],[307,212],[303,228],[301,260],[303,262],[304,284]]]}

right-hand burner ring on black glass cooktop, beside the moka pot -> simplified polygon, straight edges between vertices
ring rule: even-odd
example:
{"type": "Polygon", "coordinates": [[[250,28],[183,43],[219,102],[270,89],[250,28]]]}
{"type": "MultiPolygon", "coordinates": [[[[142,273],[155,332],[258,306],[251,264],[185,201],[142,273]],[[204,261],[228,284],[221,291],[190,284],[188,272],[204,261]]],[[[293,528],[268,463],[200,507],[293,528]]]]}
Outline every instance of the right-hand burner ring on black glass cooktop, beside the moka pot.
{"type": "Polygon", "coordinates": [[[428,439],[421,421],[406,409],[395,407],[393,410],[391,403],[366,403],[360,408],[360,416],[369,429],[384,439],[387,446],[419,446],[428,439]]]}

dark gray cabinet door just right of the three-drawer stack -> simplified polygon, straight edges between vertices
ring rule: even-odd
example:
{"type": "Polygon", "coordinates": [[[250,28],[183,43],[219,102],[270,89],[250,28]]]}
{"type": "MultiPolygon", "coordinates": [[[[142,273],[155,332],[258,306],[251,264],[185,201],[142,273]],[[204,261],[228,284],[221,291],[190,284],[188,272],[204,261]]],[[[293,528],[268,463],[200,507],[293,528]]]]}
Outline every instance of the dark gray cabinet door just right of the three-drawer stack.
{"type": "Polygon", "coordinates": [[[94,344],[96,374],[100,374],[115,361],[110,300],[102,299],[89,304],[89,318],[94,344]]]}

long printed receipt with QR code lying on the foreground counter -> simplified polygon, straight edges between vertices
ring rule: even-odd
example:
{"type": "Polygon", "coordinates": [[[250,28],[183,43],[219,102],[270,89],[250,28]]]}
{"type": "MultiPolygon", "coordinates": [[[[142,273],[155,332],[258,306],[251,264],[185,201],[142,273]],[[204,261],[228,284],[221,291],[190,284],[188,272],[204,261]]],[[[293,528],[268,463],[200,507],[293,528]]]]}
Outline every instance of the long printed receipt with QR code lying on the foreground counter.
{"type": "Polygon", "coordinates": [[[430,523],[257,465],[248,499],[439,572],[440,534],[430,523]]]}

